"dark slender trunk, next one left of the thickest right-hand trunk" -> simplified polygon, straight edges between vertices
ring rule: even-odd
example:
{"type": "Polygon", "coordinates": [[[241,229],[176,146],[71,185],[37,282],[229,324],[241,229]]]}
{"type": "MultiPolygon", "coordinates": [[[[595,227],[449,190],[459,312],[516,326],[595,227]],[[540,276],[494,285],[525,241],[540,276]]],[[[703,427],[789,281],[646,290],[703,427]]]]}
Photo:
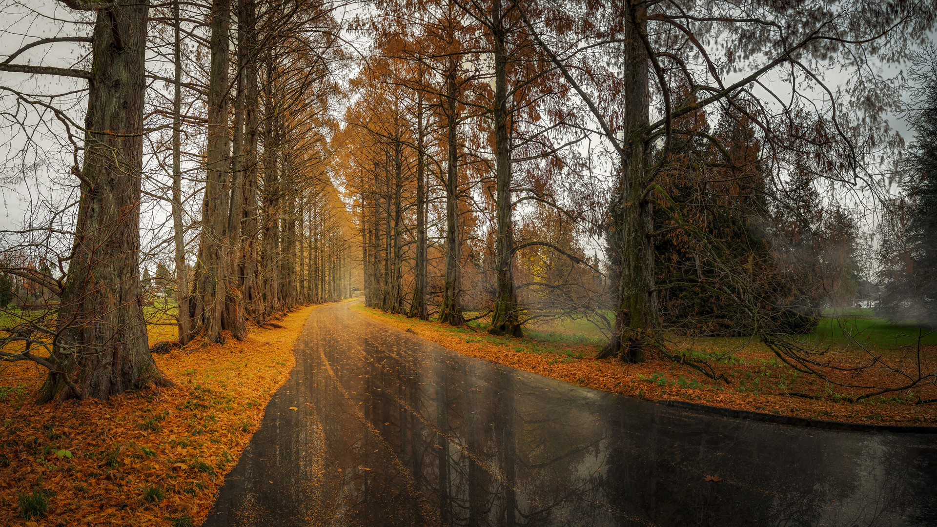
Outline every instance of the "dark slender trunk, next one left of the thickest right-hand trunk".
{"type": "Polygon", "coordinates": [[[501,2],[494,0],[491,8],[492,37],[495,42],[495,178],[496,225],[495,264],[497,268],[497,296],[495,310],[488,332],[492,335],[523,337],[517,320],[517,294],[513,278],[513,215],[511,199],[511,129],[508,123],[507,56],[504,48],[504,26],[501,21],[501,2]]]}

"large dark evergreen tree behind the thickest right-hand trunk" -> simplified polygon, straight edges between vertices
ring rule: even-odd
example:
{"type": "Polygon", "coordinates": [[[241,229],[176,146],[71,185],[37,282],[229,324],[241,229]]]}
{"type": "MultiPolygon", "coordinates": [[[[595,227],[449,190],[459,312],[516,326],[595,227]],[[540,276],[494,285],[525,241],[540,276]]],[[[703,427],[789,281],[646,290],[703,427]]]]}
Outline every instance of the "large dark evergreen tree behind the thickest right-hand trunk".
{"type": "MultiPolygon", "coordinates": [[[[705,115],[681,126],[709,133],[705,115]]],[[[781,331],[809,331],[804,294],[779,268],[766,232],[766,175],[754,128],[742,115],[724,113],[712,137],[722,149],[700,136],[675,142],[673,164],[661,178],[672,204],[655,209],[655,228],[674,225],[674,209],[692,225],[656,239],[662,324],[686,334],[750,335],[751,312],[723,287],[742,280],[781,331]],[[716,166],[701,168],[705,163],[716,166]]]]}

